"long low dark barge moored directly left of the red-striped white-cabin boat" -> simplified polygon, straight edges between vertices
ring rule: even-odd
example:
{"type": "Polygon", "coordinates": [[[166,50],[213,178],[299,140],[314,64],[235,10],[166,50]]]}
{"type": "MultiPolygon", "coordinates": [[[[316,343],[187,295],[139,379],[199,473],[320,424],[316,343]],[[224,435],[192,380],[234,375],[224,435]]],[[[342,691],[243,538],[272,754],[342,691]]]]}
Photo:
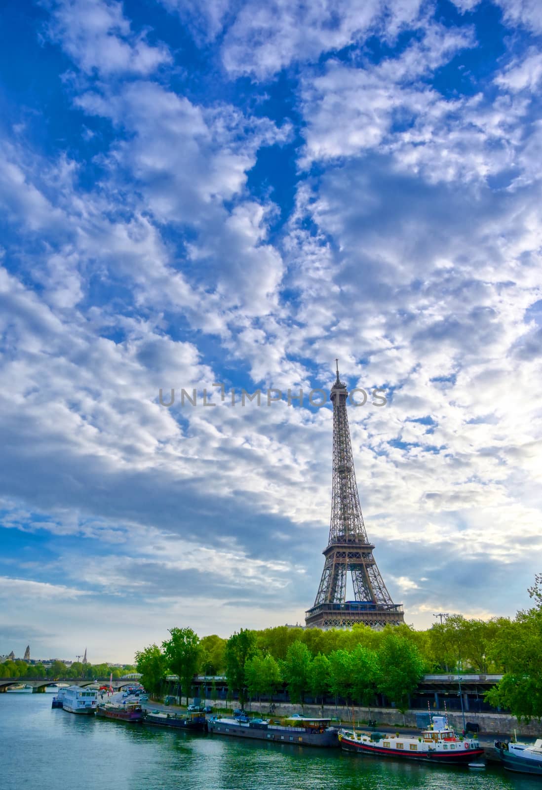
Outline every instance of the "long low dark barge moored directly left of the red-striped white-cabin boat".
{"type": "Polygon", "coordinates": [[[209,732],[216,735],[238,735],[246,739],[295,743],[296,746],[338,747],[338,730],[331,727],[331,719],[293,717],[274,724],[265,719],[247,716],[218,717],[207,720],[209,732]]]}

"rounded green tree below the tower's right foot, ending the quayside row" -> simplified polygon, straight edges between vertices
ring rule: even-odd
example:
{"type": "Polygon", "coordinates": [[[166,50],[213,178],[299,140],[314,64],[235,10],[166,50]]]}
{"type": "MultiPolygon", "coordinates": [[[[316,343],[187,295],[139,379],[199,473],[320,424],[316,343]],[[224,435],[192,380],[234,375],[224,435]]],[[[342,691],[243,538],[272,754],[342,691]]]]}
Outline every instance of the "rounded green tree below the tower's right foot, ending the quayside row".
{"type": "Polygon", "coordinates": [[[390,631],[382,638],[378,659],[381,669],[378,690],[405,713],[408,696],[423,677],[423,658],[412,641],[390,631]]]}

